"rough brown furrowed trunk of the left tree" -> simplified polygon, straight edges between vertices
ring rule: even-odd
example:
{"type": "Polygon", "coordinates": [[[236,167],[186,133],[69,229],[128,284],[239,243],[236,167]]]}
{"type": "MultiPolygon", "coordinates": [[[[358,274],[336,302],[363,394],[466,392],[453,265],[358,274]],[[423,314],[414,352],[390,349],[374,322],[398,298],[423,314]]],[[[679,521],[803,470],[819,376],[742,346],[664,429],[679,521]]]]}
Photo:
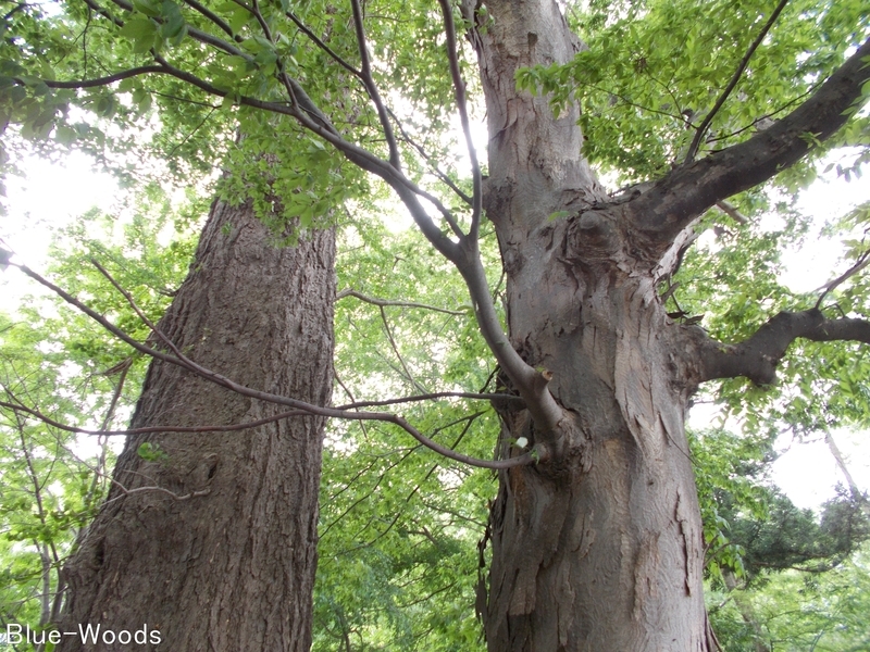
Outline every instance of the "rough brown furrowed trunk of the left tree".
{"type": "MultiPolygon", "coordinates": [[[[250,205],[215,202],[161,328],[237,383],[327,404],[334,231],[307,234],[295,248],[270,240],[250,205]]],[[[279,411],[152,362],[130,426],[229,425],[279,411]]],[[[129,649],[309,650],[323,426],[296,417],[130,437],[109,500],[65,568],[62,630],[90,624],[114,637],[64,637],[60,649],[117,650],[112,638],[147,626],[148,643],[129,649]],[[137,451],[147,442],[144,459],[137,451]]]]}

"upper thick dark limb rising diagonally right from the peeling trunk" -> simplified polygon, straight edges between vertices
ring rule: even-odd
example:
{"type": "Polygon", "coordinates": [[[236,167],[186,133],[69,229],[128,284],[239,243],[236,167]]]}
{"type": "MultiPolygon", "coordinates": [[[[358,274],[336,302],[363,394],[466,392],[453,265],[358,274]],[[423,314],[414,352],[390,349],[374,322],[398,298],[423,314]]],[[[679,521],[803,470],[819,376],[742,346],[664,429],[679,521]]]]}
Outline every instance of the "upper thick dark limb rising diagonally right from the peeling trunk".
{"type": "Polygon", "coordinates": [[[793,165],[813,142],[830,138],[859,109],[870,80],[870,39],[792,113],[748,140],[675,168],[629,202],[634,225],[667,248],[717,202],[793,165]]]}

